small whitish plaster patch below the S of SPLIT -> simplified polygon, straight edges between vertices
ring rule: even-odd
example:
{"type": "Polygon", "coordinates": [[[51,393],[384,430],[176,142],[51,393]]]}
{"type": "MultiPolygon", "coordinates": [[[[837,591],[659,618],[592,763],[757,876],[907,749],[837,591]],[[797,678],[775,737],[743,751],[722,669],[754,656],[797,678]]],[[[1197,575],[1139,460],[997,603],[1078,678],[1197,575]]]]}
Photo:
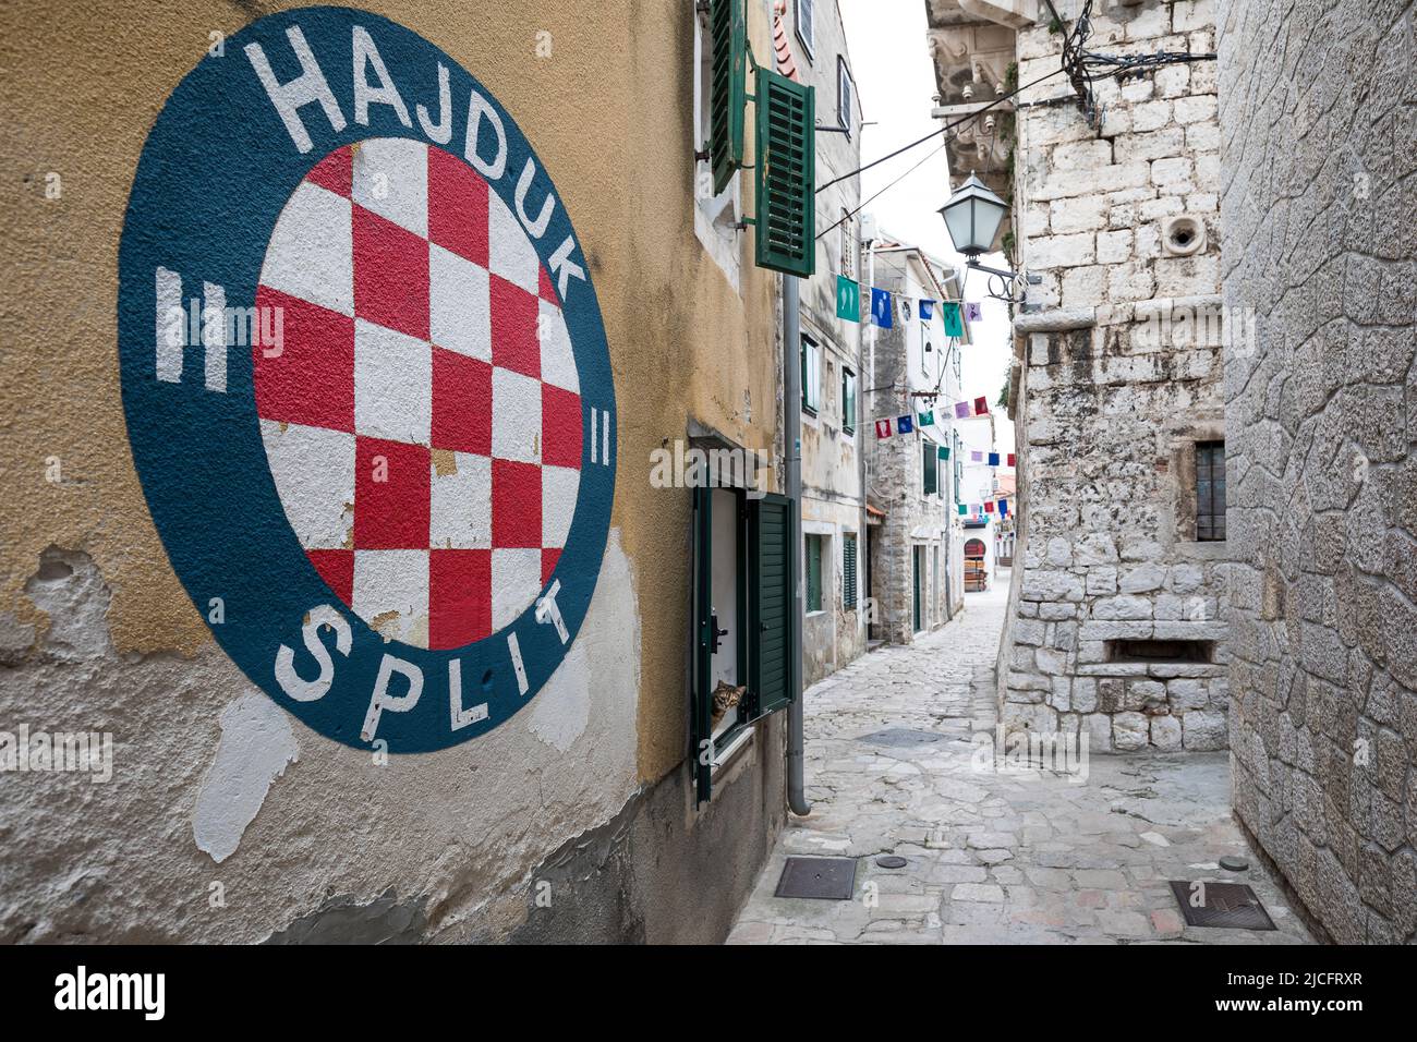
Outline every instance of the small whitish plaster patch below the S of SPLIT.
{"type": "Polygon", "coordinates": [[[265,695],[244,695],[221,710],[221,744],[191,821],[197,849],[218,865],[235,853],[271,785],[299,758],[290,717],[265,695]]]}

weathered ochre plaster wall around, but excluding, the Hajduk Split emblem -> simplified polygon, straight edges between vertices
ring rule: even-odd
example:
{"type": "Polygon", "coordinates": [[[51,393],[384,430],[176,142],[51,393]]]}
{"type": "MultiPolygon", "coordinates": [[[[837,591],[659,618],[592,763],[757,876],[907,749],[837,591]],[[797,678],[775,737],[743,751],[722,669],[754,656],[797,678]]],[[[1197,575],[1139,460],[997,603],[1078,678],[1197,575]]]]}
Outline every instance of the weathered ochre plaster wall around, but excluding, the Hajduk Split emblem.
{"type": "MultiPolygon", "coordinates": [[[[112,777],[0,773],[0,941],[502,940],[540,907],[538,872],[616,821],[640,933],[717,940],[781,827],[775,719],[716,780],[716,802],[693,804],[690,493],[648,482],[650,451],[690,418],[779,454],[777,279],[744,268],[730,285],[693,233],[693,14],[667,0],[527,3],[514,17],[493,3],[371,6],[516,115],[584,244],[621,459],[585,625],[534,705],[475,741],[387,763],[316,734],[232,665],[133,471],[116,265],[153,121],[208,30],[258,16],[196,3],[190,31],[174,31],[154,0],[118,21],[6,4],[0,96],[18,115],[0,156],[17,186],[0,286],[0,732],[108,734],[112,777]],[[710,856],[717,889],[687,887],[710,856]]],[[[750,34],[769,51],[765,3],[750,4],[750,34]]],[[[194,496],[193,525],[201,509],[239,503],[194,496]]],[[[608,920],[580,879],[550,879],[557,919],[541,936],[622,936],[598,931],[608,920]]]]}

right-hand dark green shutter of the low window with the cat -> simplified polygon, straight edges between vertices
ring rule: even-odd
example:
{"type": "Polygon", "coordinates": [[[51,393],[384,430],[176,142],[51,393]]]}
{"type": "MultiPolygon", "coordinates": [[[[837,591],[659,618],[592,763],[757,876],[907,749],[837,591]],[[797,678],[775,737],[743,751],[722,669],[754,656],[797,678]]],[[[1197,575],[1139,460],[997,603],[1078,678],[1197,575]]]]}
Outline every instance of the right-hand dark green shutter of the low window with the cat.
{"type": "Polygon", "coordinates": [[[796,695],[792,627],[796,625],[796,543],[792,500],[765,495],[748,506],[748,690],[757,716],[782,709],[796,695]]]}

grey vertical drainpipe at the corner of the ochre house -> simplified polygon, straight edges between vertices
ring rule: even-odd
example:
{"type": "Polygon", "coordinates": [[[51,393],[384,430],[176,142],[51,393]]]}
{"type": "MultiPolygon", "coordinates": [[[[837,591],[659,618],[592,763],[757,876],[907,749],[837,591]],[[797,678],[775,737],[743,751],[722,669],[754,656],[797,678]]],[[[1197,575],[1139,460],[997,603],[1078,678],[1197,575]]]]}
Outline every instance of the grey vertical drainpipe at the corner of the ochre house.
{"type": "Polygon", "coordinates": [[[782,276],[782,458],[786,465],[788,499],[792,500],[792,554],[796,559],[796,586],[792,591],[792,703],[788,706],[788,807],[806,817],[812,804],[806,801],[802,753],[802,373],[798,352],[802,343],[802,310],[795,275],[782,276]],[[792,350],[798,347],[798,350],[792,350]]]}

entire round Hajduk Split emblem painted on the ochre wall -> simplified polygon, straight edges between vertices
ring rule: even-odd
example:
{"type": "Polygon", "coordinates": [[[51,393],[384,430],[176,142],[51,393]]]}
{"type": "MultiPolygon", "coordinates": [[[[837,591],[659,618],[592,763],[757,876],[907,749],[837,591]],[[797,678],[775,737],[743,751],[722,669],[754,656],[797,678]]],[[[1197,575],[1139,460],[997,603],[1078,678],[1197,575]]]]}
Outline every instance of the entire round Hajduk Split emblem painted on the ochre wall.
{"type": "Polygon", "coordinates": [[[526,705],[599,573],[615,394],[510,113],[378,16],[262,18],[159,116],[119,282],[143,492],[247,676],[395,753],[526,705]]]}

